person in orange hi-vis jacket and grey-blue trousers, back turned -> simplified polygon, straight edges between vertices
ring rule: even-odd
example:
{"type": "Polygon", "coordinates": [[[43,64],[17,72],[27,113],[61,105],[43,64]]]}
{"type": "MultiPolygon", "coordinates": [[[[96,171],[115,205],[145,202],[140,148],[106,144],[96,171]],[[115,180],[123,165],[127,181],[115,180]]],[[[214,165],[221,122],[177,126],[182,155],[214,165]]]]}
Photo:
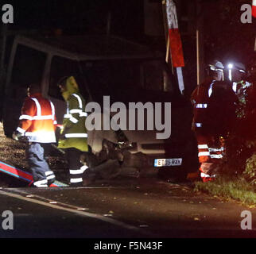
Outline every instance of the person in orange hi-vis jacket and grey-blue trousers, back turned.
{"type": "Polygon", "coordinates": [[[18,140],[22,137],[27,141],[25,155],[33,174],[33,187],[48,187],[55,180],[45,160],[45,148],[56,142],[55,125],[54,105],[42,97],[40,85],[30,85],[13,138],[18,140]]]}

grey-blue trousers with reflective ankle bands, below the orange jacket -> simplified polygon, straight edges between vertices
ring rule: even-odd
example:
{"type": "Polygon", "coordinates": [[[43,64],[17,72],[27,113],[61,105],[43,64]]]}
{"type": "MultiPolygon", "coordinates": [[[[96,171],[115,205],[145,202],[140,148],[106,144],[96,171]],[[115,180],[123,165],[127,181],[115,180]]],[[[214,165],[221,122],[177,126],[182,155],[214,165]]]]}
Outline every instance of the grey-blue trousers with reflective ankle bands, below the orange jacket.
{"type": "Polygon", "coordinates": [[[45,148],[49,144],[37,142],[28,143],[25,149],[26,160],[33,175],[35,187],[48,187],[55,181],[55,175],[45,160],[45,148]]]}

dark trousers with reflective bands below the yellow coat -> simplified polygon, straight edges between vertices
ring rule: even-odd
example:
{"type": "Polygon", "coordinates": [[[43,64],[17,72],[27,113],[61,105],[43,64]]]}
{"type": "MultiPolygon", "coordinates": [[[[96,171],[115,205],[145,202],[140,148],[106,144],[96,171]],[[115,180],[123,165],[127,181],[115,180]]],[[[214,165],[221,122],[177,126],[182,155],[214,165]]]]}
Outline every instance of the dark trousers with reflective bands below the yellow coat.
{"type": "Polygon", "coordinates": [[[66,148],[65,158],[68,160],[70,185],[72,187],[83,186],[83,164],[80,163],[82,152],[76,148],[66,148]]]}

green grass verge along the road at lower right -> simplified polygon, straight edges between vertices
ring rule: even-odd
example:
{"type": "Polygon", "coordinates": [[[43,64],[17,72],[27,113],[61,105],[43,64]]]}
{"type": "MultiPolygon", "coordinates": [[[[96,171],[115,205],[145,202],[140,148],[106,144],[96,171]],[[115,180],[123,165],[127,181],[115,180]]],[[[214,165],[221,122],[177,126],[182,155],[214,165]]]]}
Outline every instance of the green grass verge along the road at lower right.
{"type": "Polygon", "coordinates": [[[196,182],[195,191],[203,191],[219,198],[233,199],[243,205],[256,207],[256,188],[245,179],[221,177],[213,182],[196,182]]]}

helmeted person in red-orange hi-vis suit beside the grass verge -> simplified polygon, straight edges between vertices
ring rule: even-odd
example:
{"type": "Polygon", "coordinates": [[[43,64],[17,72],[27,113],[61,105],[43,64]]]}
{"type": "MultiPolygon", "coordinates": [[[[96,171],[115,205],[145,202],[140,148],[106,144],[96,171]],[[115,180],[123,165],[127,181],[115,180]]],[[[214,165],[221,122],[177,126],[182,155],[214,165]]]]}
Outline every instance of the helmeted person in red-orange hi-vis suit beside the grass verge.
{"type": "Polygon", "coordinates": [[[200,176],[204,182],[215,178],[215,175],[211,173],[213,166],[212,160],[222,156],[219,154],[222,151],[216,151],[215,149],[214,135],[210,131],[211,119],[208,116],[208,107],[215,83],[223,80],[223,69],[223,64],[219,61],[209,64],[208,80],[196,87],[191,96],[194,114],[192,129],[196,133],[200,176]]]}

